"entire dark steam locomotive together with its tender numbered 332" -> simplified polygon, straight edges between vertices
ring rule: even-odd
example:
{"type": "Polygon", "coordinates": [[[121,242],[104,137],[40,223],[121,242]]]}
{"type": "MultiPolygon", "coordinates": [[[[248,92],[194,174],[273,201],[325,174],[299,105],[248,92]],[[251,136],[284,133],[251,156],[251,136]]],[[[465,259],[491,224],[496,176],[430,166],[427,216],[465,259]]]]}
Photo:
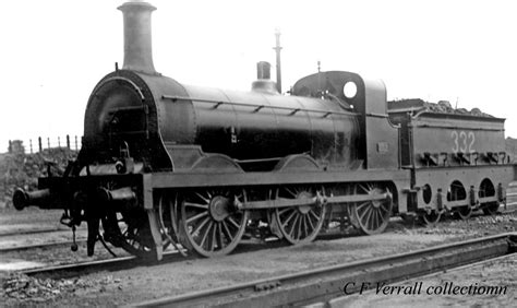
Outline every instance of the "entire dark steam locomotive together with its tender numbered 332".
{"type": "Polygon", "coordinates": [[[13,196],[19,210],[63,209],[73,230],[86,222],[88,256],[100,239],[158,260],[178,244],[211,257],[242,237],[376,234],[393,215],[434,224],[505,201],[504,119],[388,109],[382,81],[344,71],[305,76],[289,96],[264,63],[250,92],[181,84],[154,69],[155,8],[119,9],[124,64],[89,96],[77,159],[13,196]]]}

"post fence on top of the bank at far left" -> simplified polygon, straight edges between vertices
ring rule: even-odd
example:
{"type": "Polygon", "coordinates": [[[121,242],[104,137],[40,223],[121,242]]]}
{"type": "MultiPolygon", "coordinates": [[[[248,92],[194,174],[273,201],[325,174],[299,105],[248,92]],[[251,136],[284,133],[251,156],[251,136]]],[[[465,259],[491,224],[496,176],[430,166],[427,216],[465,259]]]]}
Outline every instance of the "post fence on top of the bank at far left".
{"type": "Polygon", "coordinates": [[[28,150],[28,153],[34,154],[37,152],[43,152],[48,149],[69,149],[79,151],[82,146],[82,138],[74,135],[70,137],[67,134],[63,139],[58,137],[57,139],[50,139],[38,137],[37,140],[28,140],[28,149],[25,149],[22,140],[10,140],[9,141],[9,153],[25,153],[28,150]]]}

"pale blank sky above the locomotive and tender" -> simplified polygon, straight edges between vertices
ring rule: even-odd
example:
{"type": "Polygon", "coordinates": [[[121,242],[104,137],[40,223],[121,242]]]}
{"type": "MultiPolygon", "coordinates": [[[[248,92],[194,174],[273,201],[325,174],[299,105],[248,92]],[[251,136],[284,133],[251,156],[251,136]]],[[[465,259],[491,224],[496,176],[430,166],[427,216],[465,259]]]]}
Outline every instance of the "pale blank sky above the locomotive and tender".
{"type": "MultiPolygon", "coordinates": [[[[9,140],[82,135],[95,84],[123,62],[124,1],[5,1],[0,19],[0,153],[9,140]]],[[[382,79],[388,99],[449,100],[506,118],[517,138],[517,2],[154,0],[156,70],[185,84],[248,91],[256,62],[282,87],[321,69],[382,79]],[[272,76],[275,76],[272,71],[272,76]]],[[[61,141],[63,142],[63,141],[61,141]]]]}

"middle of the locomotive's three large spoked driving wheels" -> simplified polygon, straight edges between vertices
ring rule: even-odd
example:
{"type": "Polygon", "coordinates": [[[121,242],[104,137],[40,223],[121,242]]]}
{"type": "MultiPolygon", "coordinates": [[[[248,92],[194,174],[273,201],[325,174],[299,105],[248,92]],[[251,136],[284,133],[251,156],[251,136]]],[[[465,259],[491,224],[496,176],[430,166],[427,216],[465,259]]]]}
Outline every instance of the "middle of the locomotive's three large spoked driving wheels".
{"type": "MultiPolygon", "coordinates": [[[[304,187],[279,188],[276,193],[277,199],[313,199],[315,196],[316,190],[304,187]]],[[[325,206],[314,201],[311,205],[277,208],[274,211],[274,220],[288,242],[310,242],[322,228],[325,206]]]]}

